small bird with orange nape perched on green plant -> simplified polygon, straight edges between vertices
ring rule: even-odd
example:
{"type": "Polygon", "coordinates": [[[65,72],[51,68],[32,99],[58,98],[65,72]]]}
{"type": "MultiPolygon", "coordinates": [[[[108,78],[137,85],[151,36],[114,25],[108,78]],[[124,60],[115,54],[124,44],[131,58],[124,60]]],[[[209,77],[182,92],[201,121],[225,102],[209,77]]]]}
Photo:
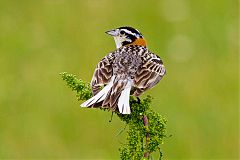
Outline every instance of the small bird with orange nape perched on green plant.
{"type": "Polygon", "coordinates": [[[138,98],[154,87],[166,69],[162,59],[149,51],[137,29],[126,26],[105,33],[114,38],[116,50],[97,64],[90,84],[93,97],[80,106],[131,114],[130,95],[138,98]]]}

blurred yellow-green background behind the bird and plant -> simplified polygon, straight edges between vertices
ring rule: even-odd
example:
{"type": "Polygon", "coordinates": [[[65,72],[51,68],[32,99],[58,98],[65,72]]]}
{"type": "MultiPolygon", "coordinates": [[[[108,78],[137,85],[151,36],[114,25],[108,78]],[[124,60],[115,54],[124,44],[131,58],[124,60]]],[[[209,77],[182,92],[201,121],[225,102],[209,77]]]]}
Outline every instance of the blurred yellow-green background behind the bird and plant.
{"type": "Polygon", "coordinates": [[[167,75],[145,93],[168,119],[165,159],[239,158],[235,0],[1,0],[0,159],[119,159],[124,124],[80,108],[58,75],[91,80],[115,49],[104,32],[139,29],[167,75]]]}

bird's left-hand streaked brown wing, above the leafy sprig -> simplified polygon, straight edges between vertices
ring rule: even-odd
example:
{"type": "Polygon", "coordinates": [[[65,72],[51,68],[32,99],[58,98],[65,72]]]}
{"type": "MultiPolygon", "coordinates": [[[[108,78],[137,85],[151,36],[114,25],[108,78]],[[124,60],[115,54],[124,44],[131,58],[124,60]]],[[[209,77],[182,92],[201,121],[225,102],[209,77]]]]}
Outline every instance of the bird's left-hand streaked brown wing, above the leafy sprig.
{"type": "Polygon", "coordinates": [[[113,52],[105,56],[98,63],[91,81],[93,95],[96,95],[101,90],[102,85],[105,85],[110,81],[113,75],[112,63],[114,58],[115,56],[113,52]]]}

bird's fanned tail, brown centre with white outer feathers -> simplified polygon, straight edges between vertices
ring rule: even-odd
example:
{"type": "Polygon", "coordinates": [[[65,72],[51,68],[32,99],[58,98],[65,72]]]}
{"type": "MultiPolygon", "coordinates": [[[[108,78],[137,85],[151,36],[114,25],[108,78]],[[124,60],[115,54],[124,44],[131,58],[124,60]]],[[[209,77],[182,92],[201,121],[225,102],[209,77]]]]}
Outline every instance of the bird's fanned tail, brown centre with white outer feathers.
{"type": "Polygon", "coordinates": [[[81,104],[81,107],[91,107],[101,102],[101,106],[107,107],[110,110],[115,111],[118,107],[119,113],[130,114],[129,96],[131,85],[131,81],[121,80],[113,76],[100,92],[81,104]]]}

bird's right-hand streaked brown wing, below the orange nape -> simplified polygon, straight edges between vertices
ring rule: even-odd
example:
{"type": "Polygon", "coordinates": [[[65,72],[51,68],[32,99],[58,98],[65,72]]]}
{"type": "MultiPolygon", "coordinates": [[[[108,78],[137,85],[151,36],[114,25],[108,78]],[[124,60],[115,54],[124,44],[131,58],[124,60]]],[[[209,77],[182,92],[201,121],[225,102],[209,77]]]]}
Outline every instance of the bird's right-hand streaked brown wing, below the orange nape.
{"type": "Polygon", "coordinates": [[[144,91],[155,86],[166,73],[160,57],[153,53],[148,53],[146,57],[149,58],[143,61],[143,65],[136,72],[134,79],[136,90],[133,93],[134,96],[139,96],[144,91]]]}

